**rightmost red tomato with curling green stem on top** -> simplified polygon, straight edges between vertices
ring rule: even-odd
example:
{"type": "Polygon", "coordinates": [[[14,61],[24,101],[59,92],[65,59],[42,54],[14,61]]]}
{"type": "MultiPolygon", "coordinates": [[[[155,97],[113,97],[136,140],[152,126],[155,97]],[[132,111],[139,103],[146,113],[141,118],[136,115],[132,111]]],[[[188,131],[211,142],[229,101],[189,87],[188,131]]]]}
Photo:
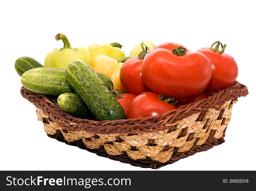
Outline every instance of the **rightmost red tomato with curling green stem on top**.
{"type": "MultiPolygon", "coordinates": [[[[226,45],[224,44],[221,51],[218,50],[220,42],[217,41],[214,49],[202,48],[197,50],[203,53],[211,62],[212,76],[206,88],[207,92],[219,92],[233,85],[237,79],[238,67],[232,56],[224,53],[226,45]]],[[[213,44],[213,45],[214,45],[213,44]]],[[[211,47],[213,47],[213,45],[211,47]]]]}

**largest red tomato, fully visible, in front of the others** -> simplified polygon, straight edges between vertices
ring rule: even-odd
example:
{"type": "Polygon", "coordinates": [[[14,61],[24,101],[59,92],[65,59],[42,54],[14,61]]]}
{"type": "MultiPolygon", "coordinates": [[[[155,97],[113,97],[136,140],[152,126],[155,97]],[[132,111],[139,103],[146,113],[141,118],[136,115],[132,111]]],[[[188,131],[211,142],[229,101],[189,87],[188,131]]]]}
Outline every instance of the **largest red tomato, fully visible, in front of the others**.
{"type": "Polygon", "coordinates": [[[185,101],[205,90],[212,70],[204,54],[180,46],[167,42],[150,49],[143,60],[141,73],[153,92],[185,101]],[[178,49],[173,52],[174,48],[178,49]]]}

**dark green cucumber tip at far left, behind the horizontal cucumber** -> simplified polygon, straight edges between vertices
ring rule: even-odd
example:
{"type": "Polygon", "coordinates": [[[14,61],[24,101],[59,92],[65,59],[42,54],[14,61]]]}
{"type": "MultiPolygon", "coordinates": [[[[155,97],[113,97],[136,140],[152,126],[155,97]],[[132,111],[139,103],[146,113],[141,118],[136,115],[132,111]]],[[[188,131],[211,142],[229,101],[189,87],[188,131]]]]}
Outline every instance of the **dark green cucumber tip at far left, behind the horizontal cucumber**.
{"type": "Polygon", "coordinates": [[[40,67],[44,67],[44,66],[34,58],[30,58],[28,56],[20,57],[14,63],[14,68],[16,72],[19,74],[19,76],[22,76],[24,72],[32,68],[40,68],[40,67]]]}

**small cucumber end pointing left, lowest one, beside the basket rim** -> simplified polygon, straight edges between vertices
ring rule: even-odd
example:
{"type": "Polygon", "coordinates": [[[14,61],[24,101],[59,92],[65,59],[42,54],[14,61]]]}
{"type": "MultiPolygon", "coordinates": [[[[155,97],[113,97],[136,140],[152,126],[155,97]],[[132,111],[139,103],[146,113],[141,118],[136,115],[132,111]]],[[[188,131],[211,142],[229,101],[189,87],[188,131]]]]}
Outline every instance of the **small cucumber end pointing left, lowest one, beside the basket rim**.
{"type": "Polygon", "coordinates": [[[83,105],[83,102],[81,101],[80,97],[77,94],[73,93],[64,93],[60,94],[58,99],[58,105],[59,107],[74,117],[78,118],[87,118],[87,106],[85,107],[83,105]]]}

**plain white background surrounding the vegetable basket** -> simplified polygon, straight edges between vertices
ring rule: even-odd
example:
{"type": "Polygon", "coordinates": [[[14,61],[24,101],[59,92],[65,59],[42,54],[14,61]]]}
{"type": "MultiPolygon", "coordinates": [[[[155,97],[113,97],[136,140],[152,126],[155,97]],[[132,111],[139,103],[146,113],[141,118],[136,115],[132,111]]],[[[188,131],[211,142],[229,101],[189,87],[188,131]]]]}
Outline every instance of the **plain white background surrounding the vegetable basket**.
{"type": "Polygon", "coordinates": [[[2,1],[0,7],[0,170],[152,170],[99,157],[48,138],[35,107],[20,95],[14,69],[21,56],[43,64],[63,46],[119,42],[128,56],[142,40],[176,42],[197,50],[217,40],[237,61],[249,95],[232,110],[225,143],[159,170],[256,170],[254,1],[2,1]],[[253,3],[252,3],[253,2],[253,3]]]}

